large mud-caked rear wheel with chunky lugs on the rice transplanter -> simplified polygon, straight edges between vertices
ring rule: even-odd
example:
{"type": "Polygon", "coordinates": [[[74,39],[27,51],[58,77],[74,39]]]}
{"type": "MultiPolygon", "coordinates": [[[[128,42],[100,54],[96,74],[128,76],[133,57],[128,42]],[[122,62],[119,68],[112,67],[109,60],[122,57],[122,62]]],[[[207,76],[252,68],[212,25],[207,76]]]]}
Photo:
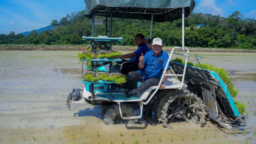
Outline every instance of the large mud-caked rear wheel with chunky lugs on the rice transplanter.
{"type": "Polygon", "coordinates": [[[205,124],[205,105],[196,94],[185,90],[172,90],[166,93],[158,103],[158,112],[161,110],[159,123],[168,127],[174,118],[181,118],[185,122],[194,122],[200,126],[205,124]]]}

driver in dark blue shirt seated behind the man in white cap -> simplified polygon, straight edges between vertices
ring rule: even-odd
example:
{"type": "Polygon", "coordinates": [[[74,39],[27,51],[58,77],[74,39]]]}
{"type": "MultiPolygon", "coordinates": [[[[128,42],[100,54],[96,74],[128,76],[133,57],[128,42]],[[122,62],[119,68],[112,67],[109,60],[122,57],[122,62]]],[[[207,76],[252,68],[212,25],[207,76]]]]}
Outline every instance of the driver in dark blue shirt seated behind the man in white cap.
{"type": "Polygon", "coordinates": [[[145,37],[144,37],[143,34],[137,34],[135,36],[135,44],[138,45],[138,49],[135,52],[122,55],[122,58],[124,58],[124,59],[136,57],[135,61],[126,62],[126,63],[123,64],[122,69],[121,69],[122,74],[127,74],[128,72],[139,70],[138,65],[139,65],[139,62],[140,62],[139,58],[141,56],[141,53],[145,54],[146,52],[149,51],[147,45],[144,43],[144,38],[145,37]]]}

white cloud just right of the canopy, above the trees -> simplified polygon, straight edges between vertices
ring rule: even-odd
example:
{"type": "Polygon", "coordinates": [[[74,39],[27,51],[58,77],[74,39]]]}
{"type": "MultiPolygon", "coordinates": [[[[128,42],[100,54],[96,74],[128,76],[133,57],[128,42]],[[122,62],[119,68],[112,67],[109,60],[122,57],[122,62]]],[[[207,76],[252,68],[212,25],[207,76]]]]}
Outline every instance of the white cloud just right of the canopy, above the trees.
{"type": "Polygon", "coordinates": [[[200,3],[195,8],[195,11],[224,16],[223,9],[216,6],[216,0],[200,0],[200,3]]]}

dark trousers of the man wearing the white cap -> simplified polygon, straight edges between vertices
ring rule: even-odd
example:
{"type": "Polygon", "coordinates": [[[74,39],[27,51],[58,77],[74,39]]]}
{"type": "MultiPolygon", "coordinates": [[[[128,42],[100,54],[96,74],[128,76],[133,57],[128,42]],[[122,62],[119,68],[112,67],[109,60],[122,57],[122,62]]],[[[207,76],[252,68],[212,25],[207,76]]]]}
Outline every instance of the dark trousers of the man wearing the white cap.
{"type": "Polygon", "coordinates": [[[142,81],[142,75],[138,73],[138,71],[132,71],[129,72],[127,75],[127,84],[130,86],[133,90],[131,93],[133,95],[136,95],[140,92],[146,91],[150,86],[154,86],[159,84],[159,79],[155,77],[150,77],[146,81],[142,81]],[[140,86],[137,88],[137,82],[142,82],[140,83],[140,86]]]}

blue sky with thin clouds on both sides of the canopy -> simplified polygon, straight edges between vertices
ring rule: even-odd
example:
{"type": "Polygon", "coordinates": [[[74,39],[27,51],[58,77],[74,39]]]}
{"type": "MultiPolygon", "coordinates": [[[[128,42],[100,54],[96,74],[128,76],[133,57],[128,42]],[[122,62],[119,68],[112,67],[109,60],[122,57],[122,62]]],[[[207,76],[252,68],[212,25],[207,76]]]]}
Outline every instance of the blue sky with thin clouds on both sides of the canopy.
{"type": "MultiPolygon", "coordinates": [[[[84,0],[0,0],[0,34],[39,29],[84,8],[84,0]]],[[[194,9],[225,18],[235,11],[256,19],[256,0],[196,0],[194,9]]]]}

